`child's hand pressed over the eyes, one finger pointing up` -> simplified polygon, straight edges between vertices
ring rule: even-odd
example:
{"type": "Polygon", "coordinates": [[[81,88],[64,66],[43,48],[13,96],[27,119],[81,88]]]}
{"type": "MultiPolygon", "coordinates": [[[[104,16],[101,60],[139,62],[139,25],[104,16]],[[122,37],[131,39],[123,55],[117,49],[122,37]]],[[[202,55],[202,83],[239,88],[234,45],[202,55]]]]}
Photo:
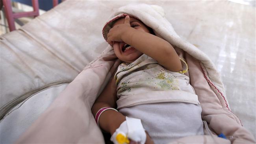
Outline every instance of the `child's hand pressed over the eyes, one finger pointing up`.
{"type": "Polygon", "coordinates": [[[114,41],[122,42],[122,35],[124,35],[130,28],[132,28],[130,25],[130,17],[126,16],[123,24],[117,24],[109,30],[107,36],[108,43],[113,46],[114,41]]]}

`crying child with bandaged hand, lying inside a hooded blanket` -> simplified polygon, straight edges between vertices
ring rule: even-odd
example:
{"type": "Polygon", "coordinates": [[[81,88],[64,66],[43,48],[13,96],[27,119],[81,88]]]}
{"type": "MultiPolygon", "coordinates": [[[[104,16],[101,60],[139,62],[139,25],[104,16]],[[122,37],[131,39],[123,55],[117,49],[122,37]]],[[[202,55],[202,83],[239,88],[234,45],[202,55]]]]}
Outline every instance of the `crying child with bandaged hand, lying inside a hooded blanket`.
{"type": "Polygon", "coordinates": [[[128,15],[115,20],[107,38],[124,63],[95,101],[92,113],[100,128],[111,133],[111,140],[120,143],[119,133],[130,142],[141,143],[168,143],[189,135],[203,135],[202,109],[198,100],[189,101],[189,96],[197,96],[183,74],[186,70],[182,63],[186,63],[173,46],[128,15]],[[137,104],[130,105],[134,101],[137,104]],[[135,136],[129,134],[134,127],[135,131],[145,129],[147,137],[141,131],[135,136]]]}

